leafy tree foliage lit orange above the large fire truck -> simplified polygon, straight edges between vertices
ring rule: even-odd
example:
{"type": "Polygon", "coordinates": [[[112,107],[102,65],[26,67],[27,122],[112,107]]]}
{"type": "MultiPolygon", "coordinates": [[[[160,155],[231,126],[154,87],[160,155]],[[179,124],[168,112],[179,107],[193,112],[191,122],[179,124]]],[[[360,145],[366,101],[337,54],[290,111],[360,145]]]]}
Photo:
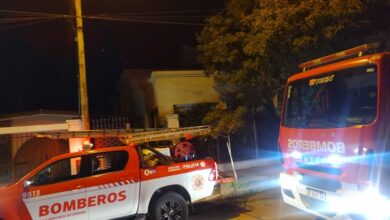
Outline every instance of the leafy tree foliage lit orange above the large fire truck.
{"type": "Polygon", "coordinates": [[[228,1],[198,36],[199,60],[227,105],[205,120],[217,132],[240,130],[299,63],[388,37],[388,10],[384,0],[228,1]]]}

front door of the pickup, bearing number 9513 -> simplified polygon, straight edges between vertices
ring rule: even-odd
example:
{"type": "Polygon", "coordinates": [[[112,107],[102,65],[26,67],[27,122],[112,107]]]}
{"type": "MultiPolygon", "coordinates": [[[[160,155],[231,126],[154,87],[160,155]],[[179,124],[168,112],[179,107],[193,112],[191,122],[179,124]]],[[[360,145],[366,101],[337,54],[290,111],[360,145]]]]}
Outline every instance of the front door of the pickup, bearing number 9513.
{"type": "Polygon", "coordinates": [[[32,219],[86,219],[85,157],[55,161],[24,183],[21,198],[32,219]]]}

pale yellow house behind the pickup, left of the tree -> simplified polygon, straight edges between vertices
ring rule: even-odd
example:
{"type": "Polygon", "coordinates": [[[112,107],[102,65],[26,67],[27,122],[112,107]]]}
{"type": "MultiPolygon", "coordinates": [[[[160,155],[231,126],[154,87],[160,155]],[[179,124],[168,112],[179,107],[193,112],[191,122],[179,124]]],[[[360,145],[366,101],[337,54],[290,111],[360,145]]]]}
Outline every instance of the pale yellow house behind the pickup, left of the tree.
{"type": "Polygon", "coordinates": [[[118,84],[116,114],[128,116],[136,128],[165,127],[170,114],[178,114],[181,123],[185,114],[198,116],[196,124],[181,126],[200,125],[201,117],[219,101],[213,87],[213,78],[202,70],[127,69],[118,84]]]}

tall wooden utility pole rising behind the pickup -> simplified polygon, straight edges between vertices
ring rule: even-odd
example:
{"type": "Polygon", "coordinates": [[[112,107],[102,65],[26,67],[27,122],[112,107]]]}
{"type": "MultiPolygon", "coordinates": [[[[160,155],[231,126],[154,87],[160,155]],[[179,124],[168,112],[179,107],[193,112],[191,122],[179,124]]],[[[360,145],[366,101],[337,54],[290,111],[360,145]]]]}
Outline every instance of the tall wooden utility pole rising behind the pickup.
{"type": "Polygon", "coordinates": [[[86,74],[86,67],[85,67],[84,33],[83,33],[83,18],[81,12],[81,0],[75,0],[75,8],[76,8],[77,48],[78,48],[78,57],[79,57],[79,96],[80,96],[80,107],[81,107],[81,120],[83,123],[83,129],[89,130],[87,74],[86,74]]]}

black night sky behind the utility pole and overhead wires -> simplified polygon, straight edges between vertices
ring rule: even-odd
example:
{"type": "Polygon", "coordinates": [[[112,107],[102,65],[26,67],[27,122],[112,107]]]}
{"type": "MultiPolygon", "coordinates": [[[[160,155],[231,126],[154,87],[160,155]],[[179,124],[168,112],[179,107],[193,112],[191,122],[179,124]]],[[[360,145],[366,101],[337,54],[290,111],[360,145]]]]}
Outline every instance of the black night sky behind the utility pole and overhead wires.
{"type": "MultiPolygon", "coordinates": [[[[84,16],[105,18],[84,19],[84,35],[91,117],[107,117],[112,115],[123,69],[201,68],[181,61],[183,47],[194,47],[202,28],[189,24],[203,24],[205,16],[221,10],[225,0],[84,0],[82,4],[84,16]]],[[[78,111],[74,19],[21,13],[70,15],[72,8],[72,0],[0,0],[0,115],[38,109],[78,111]]]]}

